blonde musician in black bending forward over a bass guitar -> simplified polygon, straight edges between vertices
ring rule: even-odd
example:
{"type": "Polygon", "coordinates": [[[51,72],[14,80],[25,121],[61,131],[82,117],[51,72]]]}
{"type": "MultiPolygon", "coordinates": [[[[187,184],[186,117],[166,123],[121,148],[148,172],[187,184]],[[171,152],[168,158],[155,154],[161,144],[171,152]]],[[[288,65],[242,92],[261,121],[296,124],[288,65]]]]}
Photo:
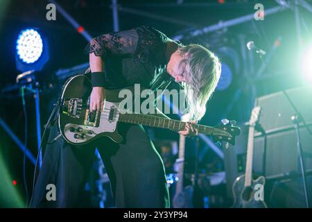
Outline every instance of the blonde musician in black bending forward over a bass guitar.
{"type": "MultiPolygon", "coordinates": [[[[152,90],[180,83],[188,90],[186,103],[190,121],[205,114],[206,103],[220,78],[220,62],[205,47],[183,46],[152,27],[100,35],[85,48],[92,72],[90,110],[101,110],[105,89],[121,89],[139,83],[152,90]]],[[[59,135],[51,127],[48,142],[59,135]]],[[[57,139],[46,146],[30,207],[80,207],[95,148],[101,154],[112,184],[116,207],[169,207],[164,164],[144,128],[119,123],[123,142],[105,137],[94,144],[73,146],[57,139]],[[46,200],[46,185],[54,184],[56,200],[46,200]]],[[[182,135],[196,135],[187,123],[182,135]]]]}

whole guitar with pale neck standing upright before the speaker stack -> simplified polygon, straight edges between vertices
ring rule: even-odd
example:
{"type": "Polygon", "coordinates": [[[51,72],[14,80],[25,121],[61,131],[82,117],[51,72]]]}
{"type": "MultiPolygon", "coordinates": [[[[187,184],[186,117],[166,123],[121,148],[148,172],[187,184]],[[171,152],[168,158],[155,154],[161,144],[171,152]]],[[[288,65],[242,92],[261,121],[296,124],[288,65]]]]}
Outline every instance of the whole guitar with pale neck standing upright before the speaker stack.
{"type": "Polygon", "coordinates": [[[254,127],[259,121],[259,114],[261,108],[259,106],[253,108],[250,117],[249,131],[248,131],[248,146],[246,157],[246,169],[245,174],[236,178],[232,191],[234,196],[235,208],[267,208],[263,198],[264,185],[266,184],[266,178],[260,176],[256,180],[252,180],[252,158],[254,152],[254,127]]]}

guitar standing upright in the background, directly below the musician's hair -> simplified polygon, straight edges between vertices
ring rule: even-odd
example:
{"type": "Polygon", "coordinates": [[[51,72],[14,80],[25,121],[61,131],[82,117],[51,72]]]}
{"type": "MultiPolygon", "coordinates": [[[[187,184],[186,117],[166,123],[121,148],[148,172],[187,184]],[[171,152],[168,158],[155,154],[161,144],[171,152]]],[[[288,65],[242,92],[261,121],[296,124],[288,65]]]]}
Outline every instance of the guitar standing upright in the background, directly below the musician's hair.
{"type": "MultiPolygon", "coordinates": [[[[182,117],[183,121],[183,117],[182,117]]],[[[185,155],[185,137],[180,135],[179,139],[179,157],[175,161],[178,164],[177,184],[175,185],[175,196],[173,196],[173,208],[193,208],[193,186],[183,187],[184,179],[184,155],[185,155]]]]}

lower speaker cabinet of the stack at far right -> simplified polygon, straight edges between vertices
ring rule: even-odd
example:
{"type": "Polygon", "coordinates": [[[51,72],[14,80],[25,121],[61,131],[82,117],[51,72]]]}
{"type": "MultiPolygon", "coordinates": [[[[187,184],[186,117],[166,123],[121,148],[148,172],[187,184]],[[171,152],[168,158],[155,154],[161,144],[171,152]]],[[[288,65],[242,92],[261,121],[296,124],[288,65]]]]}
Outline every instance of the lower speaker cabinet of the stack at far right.
{"type": "MultiPolygon", "coordinates": [[[[312,137],[306,128],[300,128],[299,132],[304,163],[306,170],[309,170],[312,169],[312,137]]],[[[295,130],[268,135],[266,140],[266,155],[264,155],[265,137],[254,139],[254,173],[270,177],[300,172],[295,130]],[[263,167],[263,164],[265,164],[265,167],[263,167]]]]}

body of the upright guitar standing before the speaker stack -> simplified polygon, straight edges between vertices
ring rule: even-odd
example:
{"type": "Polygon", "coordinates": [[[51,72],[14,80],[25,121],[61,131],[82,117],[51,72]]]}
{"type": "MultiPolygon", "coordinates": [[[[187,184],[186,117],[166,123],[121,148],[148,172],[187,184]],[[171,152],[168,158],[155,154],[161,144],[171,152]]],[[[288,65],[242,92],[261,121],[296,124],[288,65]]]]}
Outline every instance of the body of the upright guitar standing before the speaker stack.
{"type": "Polygon", "coordinates": [[[234,208],[267,208],[266,203],[263,200],[256,200],[254,198],[255,193],[259,188],[255,189],[256,185],[264,187],[266,184],[266,178],[259,176],[257,180],[252,180],[250,187],[245,187],[245,174],[236,178],[232,191],[234,196],[234,208]]]}

